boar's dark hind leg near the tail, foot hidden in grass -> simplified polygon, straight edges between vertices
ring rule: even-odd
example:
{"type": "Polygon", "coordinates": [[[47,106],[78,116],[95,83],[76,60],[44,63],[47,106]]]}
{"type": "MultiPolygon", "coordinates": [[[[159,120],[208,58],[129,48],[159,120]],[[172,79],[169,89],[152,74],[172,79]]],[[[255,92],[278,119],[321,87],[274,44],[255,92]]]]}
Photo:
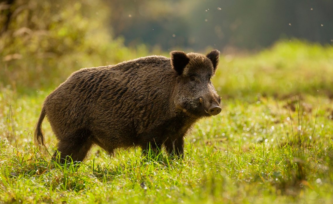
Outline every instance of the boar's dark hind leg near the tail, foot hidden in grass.
{"type": "Polygon", "coordinates": [[[83,161],[93,145],[91,141],[91,133],[89,131],[80,130],[76,134],[72,134],[66,140],[60,140],[57,144],[57,151],[54,152],[52,158],[64,163],[73,161],[83,161]],[[58,153],[60,155],[58,155],[58,153]],[[70,156],[71,158],[69,158],[70,156]]]}

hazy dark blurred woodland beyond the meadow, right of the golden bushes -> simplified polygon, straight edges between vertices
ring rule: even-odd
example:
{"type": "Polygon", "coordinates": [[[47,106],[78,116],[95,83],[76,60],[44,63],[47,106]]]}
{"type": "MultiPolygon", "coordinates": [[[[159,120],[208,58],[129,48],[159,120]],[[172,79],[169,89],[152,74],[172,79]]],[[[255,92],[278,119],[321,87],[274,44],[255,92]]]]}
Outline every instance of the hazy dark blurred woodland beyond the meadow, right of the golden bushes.
{"type": "Polygon", "coordinates": [[[109,0],[111,27],[127,45],[260,49],[280,38],[327,44],[333,35],[331,0],[109,0]],[[154,29],[154,30],[153,30],[154,29]]]}

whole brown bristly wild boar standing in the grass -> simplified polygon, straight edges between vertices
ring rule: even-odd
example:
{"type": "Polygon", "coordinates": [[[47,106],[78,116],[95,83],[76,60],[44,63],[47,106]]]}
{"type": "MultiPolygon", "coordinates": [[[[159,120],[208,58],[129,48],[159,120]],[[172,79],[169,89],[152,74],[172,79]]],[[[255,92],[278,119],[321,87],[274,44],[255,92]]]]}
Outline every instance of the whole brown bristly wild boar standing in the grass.
{"type": "MultiPolygon", "coordinates": [[[[220,97],[210,77],[219,51],[207,55],[170,52],[112,66],[83,68],[68,77],[44,101],[35,142],[44,145],[45,116],[58,139],[62,161],[82,161],[96,144],[139,146],[183,154],[184,136],[200,118],[220,112],[220,97]]],[[[53,158],[57,157],[57,151],[53,158]]]]}

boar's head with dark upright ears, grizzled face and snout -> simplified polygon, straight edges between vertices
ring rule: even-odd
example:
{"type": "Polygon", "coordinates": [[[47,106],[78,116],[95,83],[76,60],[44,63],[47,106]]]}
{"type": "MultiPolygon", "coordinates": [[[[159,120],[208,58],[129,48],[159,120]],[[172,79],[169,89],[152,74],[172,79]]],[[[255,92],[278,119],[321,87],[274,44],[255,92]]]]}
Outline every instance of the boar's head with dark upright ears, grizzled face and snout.
{"type": "Polygon", "coordinates": [[[216,72],[219,54],[217,50],[207,55],[170,52],[171,66],[177,78],[174,96],[176,107],[196,118],[221,112],[220,96],[210,81],[216,72]]]}

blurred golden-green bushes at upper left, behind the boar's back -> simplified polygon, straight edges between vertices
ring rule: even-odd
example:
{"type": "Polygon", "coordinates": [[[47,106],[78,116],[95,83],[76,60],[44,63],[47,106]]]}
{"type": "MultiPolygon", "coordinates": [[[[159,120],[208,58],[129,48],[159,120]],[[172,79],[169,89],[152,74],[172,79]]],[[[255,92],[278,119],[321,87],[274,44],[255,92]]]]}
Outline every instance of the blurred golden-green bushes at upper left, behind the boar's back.
{"type": "Polygon", "coordinates": [[[8,0],[0,8],[0,87],[54,87],[79,68],[138,55],[112,39],[103,1],[8,0]]]}

